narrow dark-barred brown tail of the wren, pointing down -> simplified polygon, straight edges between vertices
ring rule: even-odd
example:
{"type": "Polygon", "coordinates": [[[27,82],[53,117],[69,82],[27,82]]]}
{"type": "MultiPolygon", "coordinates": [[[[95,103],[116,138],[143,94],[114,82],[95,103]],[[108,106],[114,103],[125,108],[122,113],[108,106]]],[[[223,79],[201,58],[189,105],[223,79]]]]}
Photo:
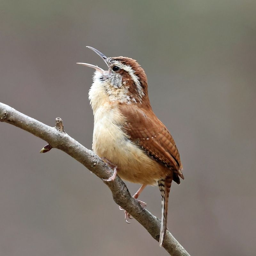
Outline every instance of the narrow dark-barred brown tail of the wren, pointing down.
{"type": "Polygon", "coordinates": [[[168,199],[172,185],[172,176],[167,176],[165,179],[158,180],[159,190],[162,196],[162,221],[160,228],[159,246],[164,244],[164,237],[167,227],[168,199]]]}

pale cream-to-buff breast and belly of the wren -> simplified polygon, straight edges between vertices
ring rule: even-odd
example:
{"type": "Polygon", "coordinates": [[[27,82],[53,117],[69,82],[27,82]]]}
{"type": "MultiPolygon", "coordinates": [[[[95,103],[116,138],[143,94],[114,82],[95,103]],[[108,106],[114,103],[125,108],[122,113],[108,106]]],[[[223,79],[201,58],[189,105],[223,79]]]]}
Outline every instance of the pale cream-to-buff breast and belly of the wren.
{"type": "Polygon", "coordinates": [[[94,114],[93,151],[116,165],[122,179],[155,185],[165,176],[165,168],[129,140],[123,123],[118,110],[99,108],[94,114]]]}

